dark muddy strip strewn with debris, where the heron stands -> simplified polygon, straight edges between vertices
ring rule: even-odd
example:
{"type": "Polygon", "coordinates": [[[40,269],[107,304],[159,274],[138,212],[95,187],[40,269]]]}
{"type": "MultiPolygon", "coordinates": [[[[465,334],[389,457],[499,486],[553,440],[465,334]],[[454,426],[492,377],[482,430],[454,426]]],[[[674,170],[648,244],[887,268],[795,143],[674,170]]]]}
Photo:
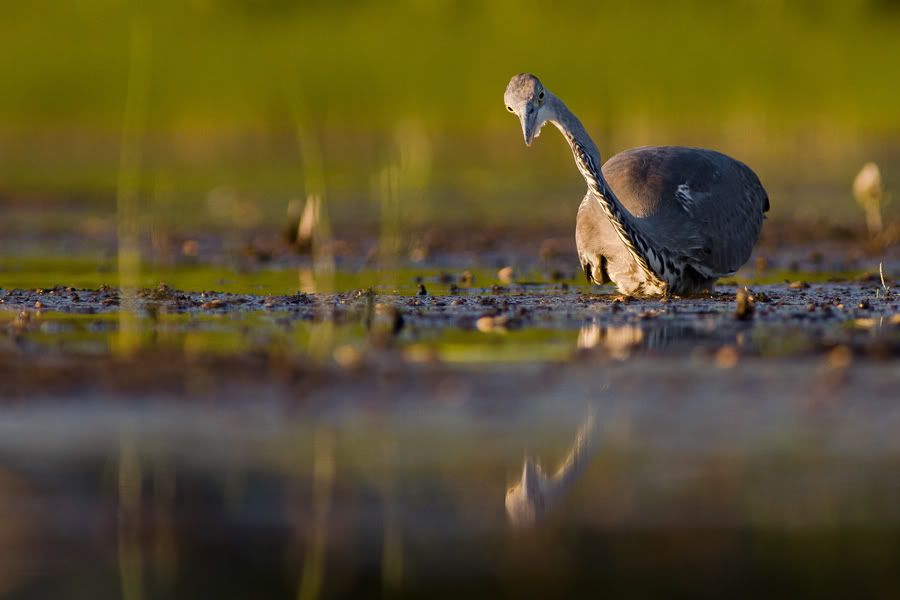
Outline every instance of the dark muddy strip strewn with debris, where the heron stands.
{"type": "Polygon", "coordinates": [[[148,381],[162,386],[191,371],[219,372],[226,381],[265,381],[270,372],[322,382],[404,371],[429,377],[460,369],[496,369],[502,377],[506,364],[618,365],[635,357],[692,360],[700,368],[724,370],[746,361],[810,360],[838,369],[871,362],[886,375],[895,370],[900,299],[885,296],[878,285],[760,285],[743,300],[740,290],[720,286],[705,296],[657,300],[623,299],[586,286],[516,283],[415,296],[372,289],[263,296],[165,285],[124,296],[107,287],[0,290],[0,393],[66,395],[65,385],[71,391],[90,382],[120,393],[129,387],[146,392],[154,389],[148,381]],[[127,352],[114,343],[123,303],[140,332],[127,352]],[[308,338],[292,338],[316,328],[333,330],[324,349],[313,348],[308,338]],[[226,350],[188,348],[184,336],[197,332],[224,332],[244,341],[226,350]],[[536,337],[527,339],[532,332],[536,337]],[[498,355],[483,364],[455,357],[445,343],[454,335],[498,355]],[[79,336],[94,341],[79,343],[79,336]],[[506,356],[502,350],[509,346],[521,351],[506,356]],[[556,350],[548,354],[548,346],[556,350]],[[57,378],[66,384],[54,384],[57,378]]]}

